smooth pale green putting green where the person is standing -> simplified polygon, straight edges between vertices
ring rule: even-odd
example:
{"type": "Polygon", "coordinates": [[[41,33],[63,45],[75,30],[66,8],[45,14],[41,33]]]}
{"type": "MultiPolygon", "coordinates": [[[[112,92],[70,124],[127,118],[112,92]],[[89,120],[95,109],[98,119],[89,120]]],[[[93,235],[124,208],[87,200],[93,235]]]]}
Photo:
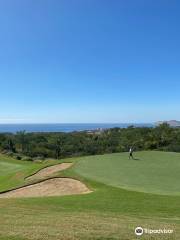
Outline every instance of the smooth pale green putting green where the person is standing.
{"type": "Polygon", "coordinates": [[[180,195],[180,154],[137,152],[135,158],[129,160],[128,153],[85,157],[76,164],[75,171],[86,178],[114,187],[180,195]]]}

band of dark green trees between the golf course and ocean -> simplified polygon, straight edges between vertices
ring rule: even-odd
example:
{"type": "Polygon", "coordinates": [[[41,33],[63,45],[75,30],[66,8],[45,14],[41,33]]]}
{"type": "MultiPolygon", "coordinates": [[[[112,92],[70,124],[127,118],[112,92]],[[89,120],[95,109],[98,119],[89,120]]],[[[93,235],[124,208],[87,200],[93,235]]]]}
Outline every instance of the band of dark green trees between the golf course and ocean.
{"type": "Polygon", "coordinates": [[[0,134],[0,151],[17,159],[56,158],[135,150],[180,152],[180,128],[113,128],[92,132],[0,134]]]}

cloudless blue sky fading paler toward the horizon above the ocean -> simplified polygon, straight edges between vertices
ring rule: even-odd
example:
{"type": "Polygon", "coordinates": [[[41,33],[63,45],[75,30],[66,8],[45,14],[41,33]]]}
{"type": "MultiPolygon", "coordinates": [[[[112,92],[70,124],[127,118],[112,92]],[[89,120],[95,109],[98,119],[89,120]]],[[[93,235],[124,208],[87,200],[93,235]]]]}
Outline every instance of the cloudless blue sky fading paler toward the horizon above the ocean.
{"type": "Polygon", "coordinates": [[[180,119],[178,0],[0,0],[0,122],[180,119]]]}

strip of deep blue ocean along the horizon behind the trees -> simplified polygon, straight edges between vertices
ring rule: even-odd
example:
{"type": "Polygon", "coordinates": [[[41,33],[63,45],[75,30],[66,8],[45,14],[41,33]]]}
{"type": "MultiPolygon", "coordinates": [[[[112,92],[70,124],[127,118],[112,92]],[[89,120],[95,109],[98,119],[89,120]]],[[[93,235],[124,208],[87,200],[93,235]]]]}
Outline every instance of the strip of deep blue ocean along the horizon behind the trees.
{"type": "Polygon", "coordinates": [[[74,132],[114,127],[127,128],[128,126],[153,127],[151,123],[48,123],[48,124],[0,124],[0,133],[26,132],[74,132]]]}

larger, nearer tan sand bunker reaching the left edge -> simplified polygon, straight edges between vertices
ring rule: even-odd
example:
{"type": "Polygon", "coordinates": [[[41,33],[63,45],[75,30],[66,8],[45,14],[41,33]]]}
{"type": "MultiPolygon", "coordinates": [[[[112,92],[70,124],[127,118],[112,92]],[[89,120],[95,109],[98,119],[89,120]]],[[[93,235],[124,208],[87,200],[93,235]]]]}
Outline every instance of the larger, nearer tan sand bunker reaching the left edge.
{"type": "Polygon", "coordinates": [[[0,198],[25,198],[85,194],[91,191],[82,182],[71,178],[53,178],[0,194],[0,198]]]}

